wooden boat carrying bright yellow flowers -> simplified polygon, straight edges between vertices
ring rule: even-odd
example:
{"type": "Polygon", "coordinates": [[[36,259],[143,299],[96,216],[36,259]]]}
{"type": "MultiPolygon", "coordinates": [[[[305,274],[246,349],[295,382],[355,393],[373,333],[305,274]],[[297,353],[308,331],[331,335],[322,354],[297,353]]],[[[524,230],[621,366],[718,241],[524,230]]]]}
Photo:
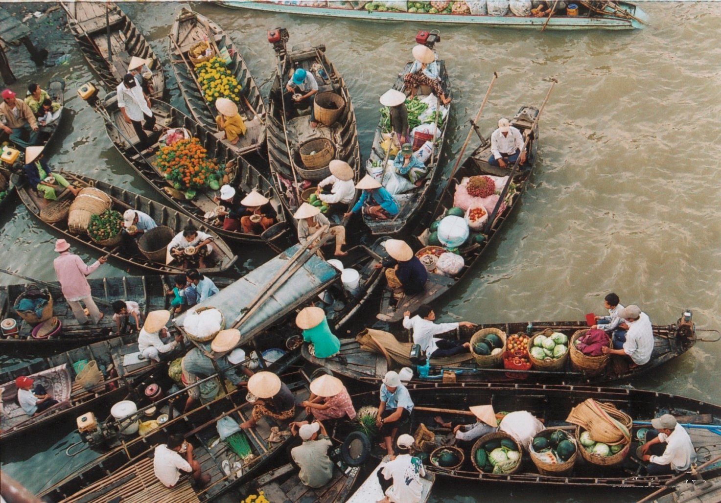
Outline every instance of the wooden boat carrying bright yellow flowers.
{"type": "Polygon", "coordinates": [[[168,53],[170,67],[173,69],[180,94],[185,99],[190,114],[203,127],[210,130],[218,129],[215,119],[218,111],[205,99],[203,89],[198,85],[193,62],[188,56],[188,50],[203,40],[211,41],[218,51],[228,52],[231,62],[226,68],[233,74],[241,88],[241,97],[234,102],[238,105],[247,131],[236,145],[226,140],[223,141],[224,145],[237,153],[263,151],[262,155],[265,155],[265,103],[240,51],[223,28],[202,14],[183,7],[170,30],[168,53]]]}

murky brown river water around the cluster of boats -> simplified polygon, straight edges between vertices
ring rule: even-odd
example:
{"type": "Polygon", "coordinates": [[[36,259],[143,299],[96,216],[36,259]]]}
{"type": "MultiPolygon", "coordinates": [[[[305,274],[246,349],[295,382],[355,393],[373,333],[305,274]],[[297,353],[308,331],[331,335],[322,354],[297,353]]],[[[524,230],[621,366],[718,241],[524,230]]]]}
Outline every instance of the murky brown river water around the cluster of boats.
{"type": "MultiPolygon", "coordinates": [[[[35,4],[30,4],[35,5],[35,4]]],[[[167,33],[179,3],[122,4],[167,61],[167,33]]],[[[344,76],[368,152],[378,120],[378,97],[410,58],[415,32],[432,25],[372,23],[264,14],[196,3],[224,27],[265,94],[275,66],[266,30],[286,27],[291,45],[327,45],[344,76]]],[[[498,79],[479,120],[485,135],[521,104],[540,106],[558,80],[540,120],[539,159],[528,192],[485,259],[436,312],[443,321],[582,319],[603,311],[603,295],[637,303],[652,321],[673,323],[684,308],[696,325],[721,326],[721,4],[645,2],[650,26],[632,32],[538,32],[441,27],[438,53],[452,79],[454,117],[442,161],[451,169],[490,83],[498,79]]],[[[30,7],[32,11],[33,7],[30,7]]],[[[59,17],[63,19],[62,17],[59,17]]],[[[58,19],[56,16],[55,19],[58,19]]],[[[66,80],[68,115],[49,148],[56,168],[107,179],[153,195],[105,135],[100,117],[76,96],[94,79],[67,32],[45,25],[66,64],[38,70],[25,49],[10,55],[20,91],[30,81],[66,80]]],[[[40,43],[39,45],[43,45],[40,43]]],[[[182,107],[167,68],[171,102],[182,107]]],[[[474,146],[472,141],[471,146],[474,146]]],[[[366,153],[367,156],[367,153],[366,153]]],[[[365,156],[364,156],[365,158],[365,156]]],[[[58,236],[18,205],[0,215],[2,267],[54,280],[52,243],[58,236]]],[[[84,259],[87,250],[77,249],[84,259]]],[[[262,247],[240,249],[241,270],[270,257],[262,247]]],[[[138,274],[110,261],[94,276],[138,274]]],[[[3,275],[1,284],[15,282],[3,275]]],[[[362,323],[356,320],[357,323],[362,323]]],[[[6,360],[6,358],[4,359],[6,360]]],[[[691,396],[721,404],[721,342],[691,351],[624,386],[691,396]],[[716,384],[714,384],[716,383],[716,384]]],[[[64,451],[78,436],[58,424],[3,445],[2,469],[33,491],[71,473],[95,454],[64,451]]],[[[592,488],[543,489],[439,482],[438,502],[483,499],[523,502],[633,502],[643,492],[592,488]]]]}

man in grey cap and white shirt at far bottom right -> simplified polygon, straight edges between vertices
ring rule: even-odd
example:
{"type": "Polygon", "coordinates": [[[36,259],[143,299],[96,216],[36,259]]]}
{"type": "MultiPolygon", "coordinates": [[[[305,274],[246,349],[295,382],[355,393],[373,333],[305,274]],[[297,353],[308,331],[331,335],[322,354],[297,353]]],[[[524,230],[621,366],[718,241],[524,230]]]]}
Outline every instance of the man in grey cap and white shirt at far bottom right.
{"type": "Polygon", "coordinates": [[[696,463],[696,450],[691,437],[675,417],[663,414],[651,419],[651,425],[655,429],[646,432],[646,443],[640,448],[642,460],[649,462],[646,467],[649,475],[684,472],[696,463]]]}

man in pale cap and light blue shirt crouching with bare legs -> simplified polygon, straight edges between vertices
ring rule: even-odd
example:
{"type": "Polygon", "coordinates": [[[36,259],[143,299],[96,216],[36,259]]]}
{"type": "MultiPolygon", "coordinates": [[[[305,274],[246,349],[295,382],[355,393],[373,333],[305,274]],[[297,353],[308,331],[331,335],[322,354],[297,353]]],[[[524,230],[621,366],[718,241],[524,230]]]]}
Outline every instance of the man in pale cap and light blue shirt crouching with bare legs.
{"type": "Polygon", "coordinates": [[[408,389],[401,383],[398,373],[390,370],[381,384],[381,403],[376,419],[376,427],[383,437],[381,447],[386,448],[388,455],[393,455],[393,437],[398,427],[410,420],[412,410],[413,401],[408,389]]]}

